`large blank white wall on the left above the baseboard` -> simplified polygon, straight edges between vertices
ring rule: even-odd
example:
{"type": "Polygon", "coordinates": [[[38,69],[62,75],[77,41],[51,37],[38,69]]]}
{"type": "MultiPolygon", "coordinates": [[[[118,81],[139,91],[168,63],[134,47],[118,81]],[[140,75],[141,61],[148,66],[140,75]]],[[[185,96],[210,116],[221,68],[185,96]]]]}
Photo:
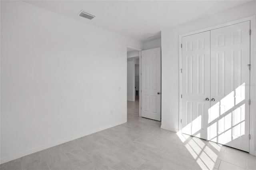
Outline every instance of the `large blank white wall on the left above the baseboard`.
{"type": "Polygon", "coordinates": [[[126,122],[127,45],[142,43],[1,1],[1,163],[126,122]]]}

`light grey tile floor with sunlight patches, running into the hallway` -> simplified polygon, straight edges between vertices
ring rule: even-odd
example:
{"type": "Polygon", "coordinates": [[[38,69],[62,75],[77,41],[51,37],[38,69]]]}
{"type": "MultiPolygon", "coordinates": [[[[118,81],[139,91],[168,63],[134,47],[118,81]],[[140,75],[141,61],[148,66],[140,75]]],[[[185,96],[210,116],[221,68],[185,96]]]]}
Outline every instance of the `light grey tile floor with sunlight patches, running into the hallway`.
{"type": "Polygon", "coordinates": [[[1,164],[1,170],[256,170],[246,152],[176,134],[138,116],[128,102],[128,122],[1,164]]]}

